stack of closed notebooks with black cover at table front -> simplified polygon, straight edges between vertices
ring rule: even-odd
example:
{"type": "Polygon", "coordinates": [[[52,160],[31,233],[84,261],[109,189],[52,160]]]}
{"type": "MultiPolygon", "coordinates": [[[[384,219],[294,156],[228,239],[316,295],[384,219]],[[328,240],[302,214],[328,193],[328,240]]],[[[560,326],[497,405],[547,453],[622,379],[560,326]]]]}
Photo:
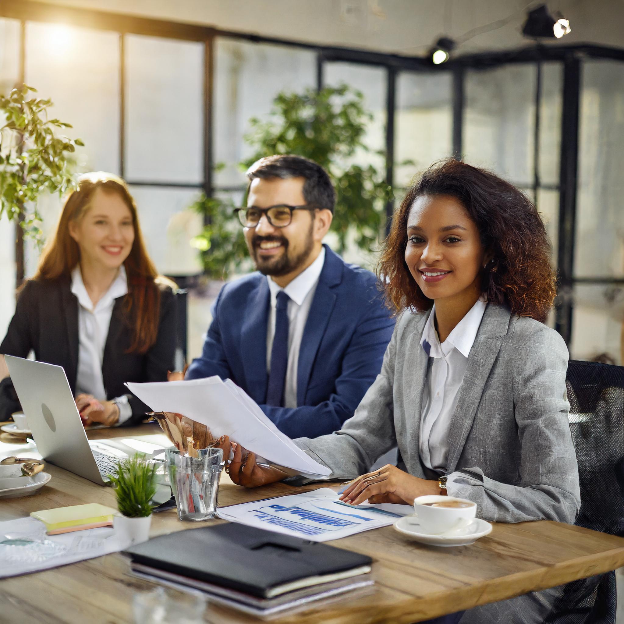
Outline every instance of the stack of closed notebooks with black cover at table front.
{"type": "Polygon", "coordinates": [[[192,588],[270,617],[373,585],[373,560],[342,548],[241,524],[162,535],[125,551],[135,574],[192,588]]]}

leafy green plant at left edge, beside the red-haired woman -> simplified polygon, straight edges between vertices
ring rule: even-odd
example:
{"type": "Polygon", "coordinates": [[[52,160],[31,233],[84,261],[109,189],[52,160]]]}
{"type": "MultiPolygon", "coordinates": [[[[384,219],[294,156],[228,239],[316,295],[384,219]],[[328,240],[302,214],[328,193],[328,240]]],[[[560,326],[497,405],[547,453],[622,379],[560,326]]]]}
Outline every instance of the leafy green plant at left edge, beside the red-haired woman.
{"type": "Polygon", "coordinates": [[[39,238],[37,199],[44,192],[62,194],[71,188],[71,155],[83,143],[59,135],[71,125],[48,119],[52,101],[30,97],[31,92],[36,89],[22,85],[7,97],[0,95],[0,217],[6,213],[39,238]]]}

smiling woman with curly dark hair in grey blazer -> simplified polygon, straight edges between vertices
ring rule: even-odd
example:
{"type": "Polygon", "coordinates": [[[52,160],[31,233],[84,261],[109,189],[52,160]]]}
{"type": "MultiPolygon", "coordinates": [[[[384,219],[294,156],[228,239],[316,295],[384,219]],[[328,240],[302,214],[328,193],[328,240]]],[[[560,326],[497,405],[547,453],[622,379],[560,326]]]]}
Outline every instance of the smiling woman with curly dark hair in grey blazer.
{"type": "MultiPolygon", "coordinates": [[[[574,522],[568,350],[544,324],[555,279],[532,203],[485,170],[438,163],[407,192],[379,266],[400,315],[381,373],[340,431],[298,446],[333,479],[356,477],[341,495],[353,505],[452,495],[485,520],[574,522]],[[394,446],[397,466],[367,472],[394,446]]],[[[230,477],[253,487],[284,475],[237,446],[230,477]]],[[[516,600],[522,617],[499,603],[476,621],[492,609],[495,622],[544,621],[544,595],[516,600]]]]}

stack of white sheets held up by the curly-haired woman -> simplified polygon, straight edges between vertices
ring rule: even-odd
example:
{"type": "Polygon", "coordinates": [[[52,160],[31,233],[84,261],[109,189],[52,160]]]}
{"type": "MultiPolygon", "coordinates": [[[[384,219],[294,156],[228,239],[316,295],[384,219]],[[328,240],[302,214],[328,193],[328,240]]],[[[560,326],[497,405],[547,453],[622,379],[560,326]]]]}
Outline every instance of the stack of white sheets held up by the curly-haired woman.
{"type": "Polygon", "coordinates": [[[217,376],[191,381],[125,384],[155,412],[177,412],[205,424],[215,437],[230,436],[268,461],[309,477],[327,477],[329,468],[314,461],[241,388],[217,376]]]}

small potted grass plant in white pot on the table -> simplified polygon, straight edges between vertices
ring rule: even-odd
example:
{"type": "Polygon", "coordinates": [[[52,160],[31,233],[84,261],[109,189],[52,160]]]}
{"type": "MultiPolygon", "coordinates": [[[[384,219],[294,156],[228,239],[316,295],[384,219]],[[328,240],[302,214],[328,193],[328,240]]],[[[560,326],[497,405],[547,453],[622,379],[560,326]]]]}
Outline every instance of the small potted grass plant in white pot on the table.
{"type": "Polygon", "coordinates": [[[117,495],[119,514],[113,518],[113,526],[130,544],[149,539],[152,524],[152,499],[156,494],[157,465],[139,454],[117,464],[117,474],[109,474],[117,495]]]}

